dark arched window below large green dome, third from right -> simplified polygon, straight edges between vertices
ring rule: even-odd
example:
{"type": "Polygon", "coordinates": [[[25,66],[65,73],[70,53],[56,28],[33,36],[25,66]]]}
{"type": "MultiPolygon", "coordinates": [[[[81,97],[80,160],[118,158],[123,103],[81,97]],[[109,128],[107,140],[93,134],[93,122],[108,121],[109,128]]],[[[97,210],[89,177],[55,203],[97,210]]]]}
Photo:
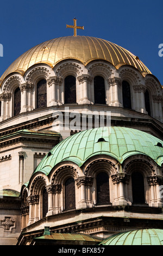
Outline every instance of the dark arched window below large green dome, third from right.
{"type": "Polygon", "coordinates": [[[73,178],[69,178],[65,182],[65,210],[76,208],[76,191],[73,178]]]}

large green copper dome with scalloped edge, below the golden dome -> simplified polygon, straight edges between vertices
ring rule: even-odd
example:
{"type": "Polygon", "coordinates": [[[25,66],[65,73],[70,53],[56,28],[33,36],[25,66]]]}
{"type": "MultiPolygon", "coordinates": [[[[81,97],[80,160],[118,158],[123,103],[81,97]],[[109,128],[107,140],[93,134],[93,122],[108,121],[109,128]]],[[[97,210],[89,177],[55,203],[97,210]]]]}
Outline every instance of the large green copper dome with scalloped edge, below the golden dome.
{"type": "Polygon", "coordinates": [[[35,172],[48,175],[52,168],[62,161],[72,161],[80,167],[95,155],[109,155],[122,163],[131,155],[143,154],[161,166],[162,145],[163,141],[146,132],[127,127],[99,127],[78,132],[64,139],[49,151],[35,172]]]}

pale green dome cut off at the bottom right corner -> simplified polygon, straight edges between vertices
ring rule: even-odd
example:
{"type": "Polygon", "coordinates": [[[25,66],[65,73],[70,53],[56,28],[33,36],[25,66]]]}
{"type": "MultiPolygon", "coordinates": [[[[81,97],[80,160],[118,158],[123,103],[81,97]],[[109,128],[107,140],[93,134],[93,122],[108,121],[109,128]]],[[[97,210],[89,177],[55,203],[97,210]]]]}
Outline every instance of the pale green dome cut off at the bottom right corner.
{"type": "Polygon", "coordinates": [[[139,229],[112,235],[100,245],[163,245],[162,229],[139,229]]]}

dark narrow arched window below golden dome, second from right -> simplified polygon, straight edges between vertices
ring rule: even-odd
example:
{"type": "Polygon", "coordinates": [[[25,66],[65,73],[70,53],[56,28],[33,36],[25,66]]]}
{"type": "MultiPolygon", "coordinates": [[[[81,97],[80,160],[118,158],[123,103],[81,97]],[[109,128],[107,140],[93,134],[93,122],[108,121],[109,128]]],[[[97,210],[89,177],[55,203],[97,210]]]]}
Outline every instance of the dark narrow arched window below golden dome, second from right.
{"type": "Polygon", "coordinates": [[[123,107],[131,109],[130,85],[127,81],[122,81],[123,107]]]}

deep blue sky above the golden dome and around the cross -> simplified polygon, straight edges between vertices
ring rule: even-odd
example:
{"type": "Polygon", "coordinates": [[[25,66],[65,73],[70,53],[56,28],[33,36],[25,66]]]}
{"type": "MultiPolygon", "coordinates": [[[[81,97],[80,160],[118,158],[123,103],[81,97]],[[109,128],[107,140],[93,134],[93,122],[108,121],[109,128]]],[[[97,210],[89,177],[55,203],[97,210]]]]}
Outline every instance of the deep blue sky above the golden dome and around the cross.
{"type": "Polygon", "coordinates": [[[76,17],[78,35],[89,35],[118,44],[136,56],[163,85],[162,0],[15,0],[0,3],[0,76],[22,53],[43,41],[73,35],[76,17]]]}

